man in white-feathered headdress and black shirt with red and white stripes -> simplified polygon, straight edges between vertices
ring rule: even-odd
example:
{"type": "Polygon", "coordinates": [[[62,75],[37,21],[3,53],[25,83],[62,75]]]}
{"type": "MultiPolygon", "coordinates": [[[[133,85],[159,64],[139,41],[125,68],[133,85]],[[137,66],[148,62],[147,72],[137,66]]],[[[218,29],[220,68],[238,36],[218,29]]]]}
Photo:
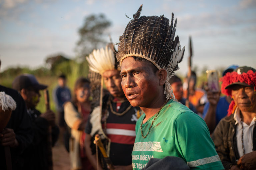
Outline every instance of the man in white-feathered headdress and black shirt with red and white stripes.
{"type": "MultiPolygon", "coordinates": [[[[105,49],[94,50],[87,57],[89,69],[101,75],[101,87],[104,80],[106,89],[110,93],[105,95],[103,100],[99,99],[103,101],[102,104],[93,109],[87,122],[86,152],[95,169],[97,168],[95,145],[91,141],[95,134],[101,136],[107,155],[116,170],[132,169],[131,153],[139,108],[132,107],[125,98],[115,53],[113,44],[110,44],[105,49]],[[93,145],[94,150],[90,149],[90,145],[93,145]]],[[[107,169],[104,160],[99,162],[101,162],[99,169],[107,169]]]]}

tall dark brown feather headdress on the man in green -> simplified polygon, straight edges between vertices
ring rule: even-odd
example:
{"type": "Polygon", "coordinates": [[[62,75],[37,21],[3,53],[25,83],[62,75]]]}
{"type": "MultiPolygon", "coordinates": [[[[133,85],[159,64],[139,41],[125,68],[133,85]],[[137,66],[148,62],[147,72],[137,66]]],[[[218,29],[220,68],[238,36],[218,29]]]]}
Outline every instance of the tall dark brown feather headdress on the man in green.
{"type": "Polygon", "coordinates": [[[140,17],[141,10],[142,5],[119,38],[117,60],[121,66],[127,57],[140,57],[153,63],[159,70],[166,69],[164,93],[166,98],[175,100],[168,80],[174,71],[179,69],[178,63],[182,61],[185,51],[185,47],[181,49],[179,37],[176,36],[174,39],[177,19],[173,24],[174,14],[172,13],[170,25],[169,19],[164,15],[140,17]]]}

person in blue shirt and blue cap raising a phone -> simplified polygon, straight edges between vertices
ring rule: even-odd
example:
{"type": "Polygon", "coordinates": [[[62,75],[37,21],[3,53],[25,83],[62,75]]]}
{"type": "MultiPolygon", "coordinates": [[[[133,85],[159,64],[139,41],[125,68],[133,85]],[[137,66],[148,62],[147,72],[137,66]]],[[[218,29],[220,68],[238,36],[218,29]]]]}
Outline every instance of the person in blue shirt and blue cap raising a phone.
{"type": "MultiPolygon", "coordinates": [[[[222,77],[225,76],[227,72],[232,72],[236,68],[238,68],[237,65],[228,67],[223,71],[222,77]]],[[[220,97],[220,92],[206,91],[208,102],[204,106],[203,119],[208,126],[210,133],[212,133],[219,121],[227,116],[228,107],[232,99],[230,96],[220,97]]]]}

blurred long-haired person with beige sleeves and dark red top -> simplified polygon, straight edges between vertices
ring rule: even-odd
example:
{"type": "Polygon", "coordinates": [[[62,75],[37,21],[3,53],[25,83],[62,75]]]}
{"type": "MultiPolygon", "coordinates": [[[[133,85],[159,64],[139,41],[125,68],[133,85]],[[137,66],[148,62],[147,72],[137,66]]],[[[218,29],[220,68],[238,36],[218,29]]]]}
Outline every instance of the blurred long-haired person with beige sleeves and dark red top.
{"type": "Polygon", "coordinates": [[[76,80],[74,86],[73,100],[64,103],[64,118],[67,125],[71,128],[69,142],[71,170],[94,169],[86,156],[84,147],[84,140],[86,138],[84,129],[91,109],[89,97],[90,81],[80,77],[76,80]]]}

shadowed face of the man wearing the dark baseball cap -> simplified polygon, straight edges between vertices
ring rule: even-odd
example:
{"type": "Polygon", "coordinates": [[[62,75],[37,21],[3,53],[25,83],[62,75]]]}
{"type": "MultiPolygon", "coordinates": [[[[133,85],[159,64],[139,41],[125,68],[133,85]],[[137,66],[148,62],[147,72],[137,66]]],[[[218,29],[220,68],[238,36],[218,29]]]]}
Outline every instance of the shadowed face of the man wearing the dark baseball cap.
{"type": "Polygon", "coordinates": [[[26,102],[27,108],[35,108],[40,100],[40,92],[38,89],[28,88],[22,93],[22,97],[26,102]]]}

